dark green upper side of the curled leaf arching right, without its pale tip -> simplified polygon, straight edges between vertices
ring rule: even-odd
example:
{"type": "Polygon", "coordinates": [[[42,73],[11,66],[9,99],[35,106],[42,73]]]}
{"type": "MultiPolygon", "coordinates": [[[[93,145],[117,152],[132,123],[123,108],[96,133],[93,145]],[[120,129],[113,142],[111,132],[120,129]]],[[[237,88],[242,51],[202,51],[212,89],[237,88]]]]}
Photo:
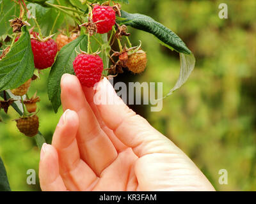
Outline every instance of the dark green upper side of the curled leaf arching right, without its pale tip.
{"type": "Polygon", "coordinates": [[[120,21],[120,24],[131,25],[136,29],[154,34],[154,36],[156,36],[159,40],[163,41],[163,45],[166,44],[174,48],[174,50],[177,52],[191,54],[189,48],[186,47],[185,43],[179,38],[179,36],[177,36],[177,34],[173,33],[173,31],[167,27],[164,27],[163,24],[156,22],[153,18],[140,13],[127,13],[123,10],[121,13],[121,17],[126,18],[126,20],[120,21]]]}

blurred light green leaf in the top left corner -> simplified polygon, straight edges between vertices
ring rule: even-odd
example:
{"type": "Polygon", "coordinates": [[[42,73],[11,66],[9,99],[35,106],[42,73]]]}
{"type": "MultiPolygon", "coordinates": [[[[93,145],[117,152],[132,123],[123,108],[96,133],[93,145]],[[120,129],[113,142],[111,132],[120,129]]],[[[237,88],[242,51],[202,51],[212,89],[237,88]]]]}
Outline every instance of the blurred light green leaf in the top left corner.
{"type": "Polygon", "coordinates": [[[19,16],[19,8],[14,1],[0,0],[0,36],[12,34],[12,27],[9,20],[14,16],[19,16]]]}

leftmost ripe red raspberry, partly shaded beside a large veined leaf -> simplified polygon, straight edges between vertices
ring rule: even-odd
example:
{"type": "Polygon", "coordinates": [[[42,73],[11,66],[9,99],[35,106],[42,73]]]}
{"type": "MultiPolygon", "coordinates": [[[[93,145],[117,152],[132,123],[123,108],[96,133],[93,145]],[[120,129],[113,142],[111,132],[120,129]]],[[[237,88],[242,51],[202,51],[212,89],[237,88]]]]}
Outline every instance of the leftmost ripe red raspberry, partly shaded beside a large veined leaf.
{"type": "Polygon", "coordinates": [[[57,45],[51,38],[47,41],[31,39],[31,47],[34,54],[35,68],[45,69],[52,66],[57,54],[57,45]]]}

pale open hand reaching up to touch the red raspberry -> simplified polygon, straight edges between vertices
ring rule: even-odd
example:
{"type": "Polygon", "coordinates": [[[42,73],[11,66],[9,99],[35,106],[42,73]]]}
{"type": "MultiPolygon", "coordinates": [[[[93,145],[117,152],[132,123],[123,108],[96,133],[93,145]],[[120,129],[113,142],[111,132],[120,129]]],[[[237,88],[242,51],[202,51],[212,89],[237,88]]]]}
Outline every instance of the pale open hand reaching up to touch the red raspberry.
{"type": "Polygon", "coordinates": [[[106,78],[97,90],[61,78],[63,115],[40,155],[42,191],[214,191],[171,140],[136,115],[106,78]],[[96,105],[93,96],[118,105],[96,105]]]}

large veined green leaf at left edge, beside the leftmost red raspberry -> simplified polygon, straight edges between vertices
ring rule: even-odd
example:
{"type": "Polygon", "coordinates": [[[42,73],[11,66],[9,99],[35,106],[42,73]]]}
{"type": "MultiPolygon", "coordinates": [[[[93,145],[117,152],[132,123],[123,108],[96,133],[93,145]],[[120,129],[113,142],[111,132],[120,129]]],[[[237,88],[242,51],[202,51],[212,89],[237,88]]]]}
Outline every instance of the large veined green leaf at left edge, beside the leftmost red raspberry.
{"type": "Polygon", "coordinates": [[[0,91],[24,84],[34,73],[34,57],[28,29],[22,27],[19,40],[0,60],[0,91]]]}

